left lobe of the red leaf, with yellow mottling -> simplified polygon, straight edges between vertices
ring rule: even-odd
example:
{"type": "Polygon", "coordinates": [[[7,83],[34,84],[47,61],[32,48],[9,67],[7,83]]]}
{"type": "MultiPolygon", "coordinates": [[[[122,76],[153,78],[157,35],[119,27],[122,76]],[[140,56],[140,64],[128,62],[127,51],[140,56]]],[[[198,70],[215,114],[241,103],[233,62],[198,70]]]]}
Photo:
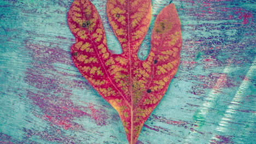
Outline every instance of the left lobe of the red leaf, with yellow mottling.
{"type": "Polygon", "coordinates": [[[68,25],[76,38],[71,53],[80,73],[115,109],[118,109],[117,105],[128,106],[127,100],[120,103],[125,98],[124,93],[119,91],[117,82],[110,79],[110,73],[115,72],[117,56],[107,48],[106,35],[95,6],[89,0],[75,0],[68,12],[68,25]],[[90,22],[89,25],[83,26],[86,22],[90,22]]]}

